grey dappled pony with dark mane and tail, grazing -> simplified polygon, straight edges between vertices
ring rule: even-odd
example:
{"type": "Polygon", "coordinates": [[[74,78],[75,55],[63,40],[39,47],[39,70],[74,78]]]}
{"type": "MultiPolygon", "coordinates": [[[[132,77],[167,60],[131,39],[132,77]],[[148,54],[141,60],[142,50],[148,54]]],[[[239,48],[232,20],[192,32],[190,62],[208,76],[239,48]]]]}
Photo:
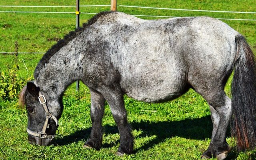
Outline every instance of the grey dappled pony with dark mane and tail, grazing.
{"type": "Polygon", "coordinates": [[[62,95],[81,80],[90,90],[92,130],[84,147],[102,145],[107,101],[120,134],[117,155],[132,154],[134,137],[123,96],[165,102],[194,89],[209,104],[212,137],[202,158],[226,158],[231,121],[238,150],[256,146],[256,65],[244,36],[210,17],[142,20],[101,12],[67,34],[42,57],[20,93],[28,140],[48,145],[61,117],[62,95]],[[224,86],[234,70],[232,98],[224,86]]]}

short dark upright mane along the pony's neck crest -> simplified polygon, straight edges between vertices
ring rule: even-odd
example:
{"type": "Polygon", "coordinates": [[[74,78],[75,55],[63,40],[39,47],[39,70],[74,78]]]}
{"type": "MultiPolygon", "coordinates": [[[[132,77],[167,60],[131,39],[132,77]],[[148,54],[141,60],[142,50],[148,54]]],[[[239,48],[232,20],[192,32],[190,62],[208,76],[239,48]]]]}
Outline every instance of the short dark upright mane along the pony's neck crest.
{"type": "Polygon", "coordinates": [[[81,32],[83,32],[88,26],[94,24],[94,22],[96,22],[98,20],[98,18],[100,18],[100,17],[102,17],[102,16],[104,16],[106,14],[110,14],[112,12],[115,12],[115,11],[104,11],[104,12],[100,12],[100,13],[96,14],[91,19],[89,19],[87,21],[87,23],[83,23],[83,27],[76,28],[75,31],[70,31],[68,34],[66,34],[64,36],[63,39],[59,40],[56,44],[54,44],[52,46],[52,48],[50,48],[46,52],[46,54],[44,54],[44,56],[42,57],[42,59],[40,60],[38,65],[36,66],[36,69],[35,69],[35,72],[34,72],[34,78],[38,77],[38,74],[40,73],[40,70],[44,67],[44,64],[48,63],[50,58],[56,52],[58,52],[58,50],[60,50],[60,48],[66,46],[68,44],[68,42],[70,42],[72,39],[74,39],[76,37],[76,35],[78,35],[81,32]]]}

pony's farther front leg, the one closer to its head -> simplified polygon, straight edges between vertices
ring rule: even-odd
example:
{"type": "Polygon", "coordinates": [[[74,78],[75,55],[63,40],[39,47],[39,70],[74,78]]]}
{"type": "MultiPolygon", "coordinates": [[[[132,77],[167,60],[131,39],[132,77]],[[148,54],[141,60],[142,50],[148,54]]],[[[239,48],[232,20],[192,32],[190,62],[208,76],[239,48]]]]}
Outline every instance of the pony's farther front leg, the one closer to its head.
{"type": "Polygon", "coordinates": [[[102,145],[102,118],[104,115],[105,98],[98,92],[90,90],[91,93],[91,120],[92,131],[85,142],[85,148],[100,149],[102,145]]]}

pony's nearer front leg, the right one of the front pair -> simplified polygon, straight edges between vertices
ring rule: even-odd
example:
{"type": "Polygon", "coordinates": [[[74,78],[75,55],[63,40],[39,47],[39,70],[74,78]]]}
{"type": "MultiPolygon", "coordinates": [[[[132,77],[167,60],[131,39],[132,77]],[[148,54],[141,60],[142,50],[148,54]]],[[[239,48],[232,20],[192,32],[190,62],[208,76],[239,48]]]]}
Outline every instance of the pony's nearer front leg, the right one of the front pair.
{"type": "Polygon", "coordinates": [[[124,98],[120,86],[107,88],[104,97],[110,106],[120,134],[120,146],[116,154],[118,156],[131,154],[133,151],[134,137],[132,136],[132,128],[127,122],[124,98]]]}

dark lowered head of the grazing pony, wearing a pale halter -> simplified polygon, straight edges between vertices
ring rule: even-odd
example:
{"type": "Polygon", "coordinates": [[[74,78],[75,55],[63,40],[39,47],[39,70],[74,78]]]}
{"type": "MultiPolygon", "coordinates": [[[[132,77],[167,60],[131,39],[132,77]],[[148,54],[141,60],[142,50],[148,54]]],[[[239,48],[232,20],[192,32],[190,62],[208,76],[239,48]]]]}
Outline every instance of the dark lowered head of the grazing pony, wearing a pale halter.
{"type": "Polygon", "coordinates": [[[60,103],[48,95],[42,95],[34,82],[28,82],[20,92],[19,103],[28,113],[28,141],[30,144],[46,146],[56,134],[59,112],[54,112],[60,103]],[[57,118],[56,118],[57,117],[57,118]]]}

